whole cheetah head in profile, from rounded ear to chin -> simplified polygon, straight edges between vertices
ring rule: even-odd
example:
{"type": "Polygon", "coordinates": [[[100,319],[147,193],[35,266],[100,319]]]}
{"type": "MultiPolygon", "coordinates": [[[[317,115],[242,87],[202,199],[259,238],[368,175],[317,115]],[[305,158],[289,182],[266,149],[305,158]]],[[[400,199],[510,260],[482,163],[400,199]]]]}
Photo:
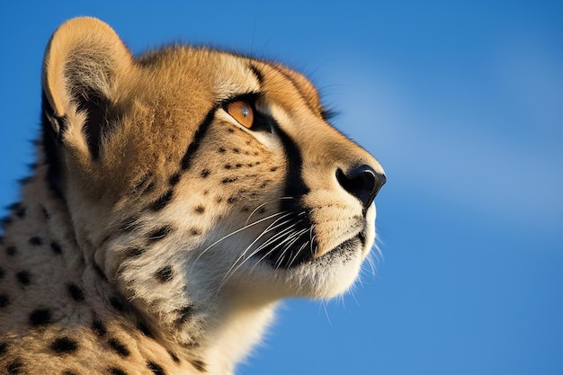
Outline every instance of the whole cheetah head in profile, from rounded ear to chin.
{"type": "Polygon", "coordinates": [[[86,258],[139,307],[353,283],[385,176],[304,76],[184,46],[133,58],[93,19],[61,26],[45,61],[49,182],[86,258]]]}

